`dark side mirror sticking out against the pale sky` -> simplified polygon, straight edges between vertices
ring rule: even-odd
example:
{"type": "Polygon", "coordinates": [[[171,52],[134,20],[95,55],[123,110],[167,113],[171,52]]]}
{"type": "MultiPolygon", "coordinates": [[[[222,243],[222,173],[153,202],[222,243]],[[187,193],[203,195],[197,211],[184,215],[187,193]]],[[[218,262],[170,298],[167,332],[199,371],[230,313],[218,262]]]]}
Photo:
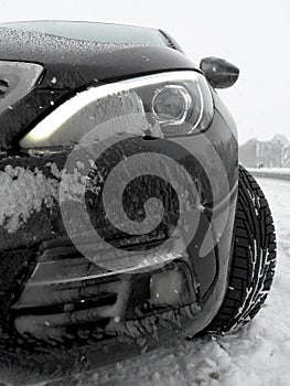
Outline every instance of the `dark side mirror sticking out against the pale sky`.
{"type": "Polygon", "coordinates": [[[204,57],[201,61],[200,68],[214,88],[233,86],[239,74],[238,67],[218,57],[204,57]]]}

